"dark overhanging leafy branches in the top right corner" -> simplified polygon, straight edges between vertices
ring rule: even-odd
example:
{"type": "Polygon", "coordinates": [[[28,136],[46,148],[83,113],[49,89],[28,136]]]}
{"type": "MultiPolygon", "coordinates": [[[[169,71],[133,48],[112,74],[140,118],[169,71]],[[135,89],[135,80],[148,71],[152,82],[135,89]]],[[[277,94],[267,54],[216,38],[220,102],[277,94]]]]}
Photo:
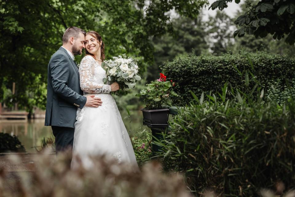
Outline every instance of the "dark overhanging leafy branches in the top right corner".
{"type": "MultiPolygon", "coordinates": [[[[217,7],[223,10],[232,0],[218,0],[212,3],[212,10],[217,7]]],[[[235,0],[239,3],[240,0],[235,0]]],[[[209,9],[210,9],[209,8],[209,9]]],[[[293,0],[261,0],[254,6],[249,4],[248,11],[240,15],[235,24],[240,28],[234,36],[242,37],[246,33],[256,38],[264,38],[267,34],[280,40],[287,35],[285,41],[290,45],[295,43],[295,2],[293,0]]]]}

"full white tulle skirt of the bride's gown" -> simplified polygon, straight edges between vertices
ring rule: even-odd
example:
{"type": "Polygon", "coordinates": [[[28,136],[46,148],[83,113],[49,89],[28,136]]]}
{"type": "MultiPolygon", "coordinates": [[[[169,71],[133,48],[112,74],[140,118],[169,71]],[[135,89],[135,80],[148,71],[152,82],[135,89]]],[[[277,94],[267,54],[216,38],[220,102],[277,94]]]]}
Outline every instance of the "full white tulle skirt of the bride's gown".
{"type": "MultiPolygon", "coordinates": [[[[89,94],[84,94],[85,96],[89,94]]],[[[102,100],[98,108],[83,107],[77,110],[75,123],[72,167],[79,156],[84,167],[91,167],[89,156],[106,155],[118,163],[138,167],[128,132],[111,94],[93,94],[102,100]]]]}

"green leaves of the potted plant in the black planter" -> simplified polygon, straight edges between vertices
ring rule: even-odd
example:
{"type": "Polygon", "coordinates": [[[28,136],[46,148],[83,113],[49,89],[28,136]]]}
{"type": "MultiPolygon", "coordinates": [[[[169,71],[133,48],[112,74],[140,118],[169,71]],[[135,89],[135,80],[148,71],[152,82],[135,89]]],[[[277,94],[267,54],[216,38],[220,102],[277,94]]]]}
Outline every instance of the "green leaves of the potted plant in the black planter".
{"type": "Polygon", "coordinates": [[[145,109],[162,109],[165,105],[171,106],[169,99],[171,96],[178,96],[172,90],[174,86],[175,82],[172,81],[155,80],[146,84],[146,87],[140,90],[140,94],[136,94],[136,96],[140,96],[144,100],[146,104],[145,109]]]}

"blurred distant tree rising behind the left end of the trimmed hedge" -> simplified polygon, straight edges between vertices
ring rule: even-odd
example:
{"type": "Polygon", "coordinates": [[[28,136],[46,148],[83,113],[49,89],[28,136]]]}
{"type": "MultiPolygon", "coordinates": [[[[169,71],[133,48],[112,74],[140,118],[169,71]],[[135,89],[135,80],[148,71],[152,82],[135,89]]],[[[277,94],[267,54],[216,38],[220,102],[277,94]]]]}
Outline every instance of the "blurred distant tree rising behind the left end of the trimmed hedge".
{"type": "Polygon", "coordinates": [[[205,26],[201,16],[195,19],[177,17],[171,21],[172,30],[161,37],[152,39],[154,51],[154,64],[148,67],[147,81],[159,78],[159,66],[166,61],[183,55],[200,55],[209,53],[206,43],[205,26]]]}

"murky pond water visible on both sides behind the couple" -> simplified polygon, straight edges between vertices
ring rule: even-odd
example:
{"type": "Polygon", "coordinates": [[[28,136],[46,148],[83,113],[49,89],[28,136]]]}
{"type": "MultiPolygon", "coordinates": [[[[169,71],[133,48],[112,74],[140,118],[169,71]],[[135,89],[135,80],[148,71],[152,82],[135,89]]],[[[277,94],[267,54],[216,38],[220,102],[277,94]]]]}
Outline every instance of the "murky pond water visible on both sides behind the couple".
{"type": "MultiPolygon", "coordinates": [[[[142,125],[142,112],[120,111],[125,127],[130,135],[147,128],[142,125]]],[[[27,152],[37,152],[43,138],[53,138],[51,127],[44,126],[44,119],[31,120],[0,120],[0,132],[18,136],[27,152]],[[36,147],[36,148],[35,148],[36,147]]]]}

